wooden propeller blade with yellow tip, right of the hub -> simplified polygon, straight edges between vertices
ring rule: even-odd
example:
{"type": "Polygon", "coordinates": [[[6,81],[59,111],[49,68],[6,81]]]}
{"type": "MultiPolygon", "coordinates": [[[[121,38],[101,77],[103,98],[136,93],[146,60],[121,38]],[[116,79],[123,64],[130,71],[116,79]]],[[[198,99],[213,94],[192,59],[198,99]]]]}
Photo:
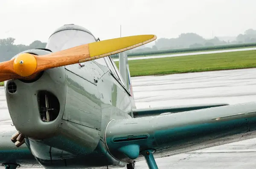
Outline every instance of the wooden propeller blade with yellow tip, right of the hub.
{"type": "Polygon", "coordinates": [[[44,56],[35,56],[38,61],[36,71],[87,62],[101,57],[110,56],[136,48],[148,42],[152,42],[156,38],[157,37],[155,35],[137,35],[108,39],[86,45],[80,45],[44,56]]]}

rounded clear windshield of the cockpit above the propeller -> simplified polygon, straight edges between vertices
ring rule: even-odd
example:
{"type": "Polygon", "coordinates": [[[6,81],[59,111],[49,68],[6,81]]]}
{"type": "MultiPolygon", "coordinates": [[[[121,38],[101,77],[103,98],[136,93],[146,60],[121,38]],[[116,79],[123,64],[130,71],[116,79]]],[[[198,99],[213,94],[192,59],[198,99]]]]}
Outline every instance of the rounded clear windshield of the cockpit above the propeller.
{"type": "Polygon", "coordinates": [[[84,31],[68,29],[53,34],[49,38],[46,48],[56,52],[91,42],[96,42],[93,35],[84,31]]]}

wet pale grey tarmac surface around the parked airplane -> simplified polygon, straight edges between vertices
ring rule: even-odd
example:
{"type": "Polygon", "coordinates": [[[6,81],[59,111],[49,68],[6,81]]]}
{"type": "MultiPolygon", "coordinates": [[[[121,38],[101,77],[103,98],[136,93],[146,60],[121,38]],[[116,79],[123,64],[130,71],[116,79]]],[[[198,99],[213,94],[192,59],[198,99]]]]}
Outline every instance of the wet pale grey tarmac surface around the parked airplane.
{"type": "MultiPolygon", "coordinates": [[[[255,68],[134,77],[132,85],[137,108],[256,101],[255,68]]],[[[1,123],[9,121],[3,87],[0,110],[1,123]]],[[[159,169],[245,169],[254,168],[254,159],[256,139],[157,158],[156,162],[159,169]]],[[[148,166],[140,161],[136,169],[148,169],[148,166]]]]}

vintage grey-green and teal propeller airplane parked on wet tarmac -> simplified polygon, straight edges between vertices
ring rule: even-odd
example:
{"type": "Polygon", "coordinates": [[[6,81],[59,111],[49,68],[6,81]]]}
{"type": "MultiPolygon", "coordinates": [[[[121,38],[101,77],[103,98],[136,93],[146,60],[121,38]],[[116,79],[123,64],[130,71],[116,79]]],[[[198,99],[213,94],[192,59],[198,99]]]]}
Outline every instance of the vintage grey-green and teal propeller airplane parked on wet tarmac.
{"type": "Polygon", "coordinates": [[[0,63],[11,117],[0,124],[0,163],[6,169],[134,169],[145,160],[158,169],[155,158],[256,137],[255,102],[137,109],[125,51],[155,39],[101,41],[68,24],[45,48],[0,63]]]}

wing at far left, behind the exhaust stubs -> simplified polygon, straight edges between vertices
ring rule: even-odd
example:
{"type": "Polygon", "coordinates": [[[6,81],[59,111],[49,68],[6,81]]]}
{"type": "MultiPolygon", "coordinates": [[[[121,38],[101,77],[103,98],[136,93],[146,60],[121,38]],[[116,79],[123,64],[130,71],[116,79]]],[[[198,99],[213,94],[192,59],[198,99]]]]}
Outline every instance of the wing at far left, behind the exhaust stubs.
{"type": "Polygon", "coordinates": [[[23,166],[29,167],[40,166],[26,144],[16,147],[11,141],[11,137],[15,132],[17,130],[9,120],[0,121],[0,163],[24,163],[23,166]]]}

